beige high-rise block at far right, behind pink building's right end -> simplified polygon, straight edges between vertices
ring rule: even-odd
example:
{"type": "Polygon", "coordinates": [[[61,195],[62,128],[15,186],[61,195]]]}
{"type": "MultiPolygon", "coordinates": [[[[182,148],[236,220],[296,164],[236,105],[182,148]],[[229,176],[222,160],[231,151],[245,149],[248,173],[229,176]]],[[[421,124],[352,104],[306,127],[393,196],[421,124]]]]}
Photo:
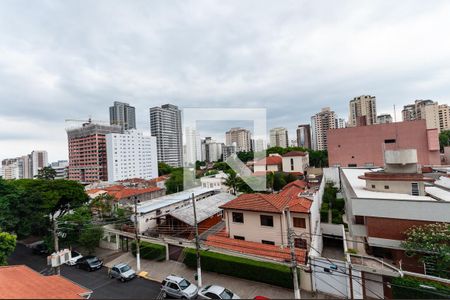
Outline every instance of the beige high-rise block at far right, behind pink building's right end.
{"type": "MultiPolygon", "coordinates": [[[[450,128],[445,127],[445,123],[440,121],[441,116],[442,120],[445,119],[444,112],[444,106],[440,110],[440,105],[433,100],[416,100],[414,104],[403,106],[402,117],[403,121],[426,120],[428,129],[437,128],[440,132],[450,128]]],[[[448,113],[447,118],[449,118],[448,113]]]]}

